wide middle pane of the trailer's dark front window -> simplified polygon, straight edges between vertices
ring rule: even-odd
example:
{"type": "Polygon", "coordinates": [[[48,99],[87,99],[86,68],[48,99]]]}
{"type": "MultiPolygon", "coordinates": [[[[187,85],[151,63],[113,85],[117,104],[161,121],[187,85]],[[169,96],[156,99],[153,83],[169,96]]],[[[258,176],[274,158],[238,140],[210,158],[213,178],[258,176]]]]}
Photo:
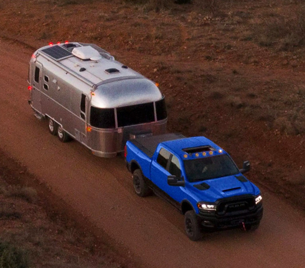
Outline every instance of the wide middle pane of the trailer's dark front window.
{"type": "Polygon", "coordinates": [[[118,127],[155,121],[154,104],[137,104],[117,108],[118,127]]]}

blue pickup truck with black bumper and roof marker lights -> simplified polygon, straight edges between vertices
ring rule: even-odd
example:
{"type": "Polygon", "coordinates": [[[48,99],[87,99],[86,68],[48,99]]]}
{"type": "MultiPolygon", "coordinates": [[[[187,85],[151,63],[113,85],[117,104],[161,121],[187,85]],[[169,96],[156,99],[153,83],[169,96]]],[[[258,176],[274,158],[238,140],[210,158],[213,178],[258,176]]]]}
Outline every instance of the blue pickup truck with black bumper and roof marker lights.
{"type": "Polygon", "coordinates": [[[222,148],[205,137],[169,133],[130,140],[126,165],[139,196],[152,191],[185,215],[185,230],[196,241],[208,230],[253,230],[263,215],[260,190],[222,148]]]}

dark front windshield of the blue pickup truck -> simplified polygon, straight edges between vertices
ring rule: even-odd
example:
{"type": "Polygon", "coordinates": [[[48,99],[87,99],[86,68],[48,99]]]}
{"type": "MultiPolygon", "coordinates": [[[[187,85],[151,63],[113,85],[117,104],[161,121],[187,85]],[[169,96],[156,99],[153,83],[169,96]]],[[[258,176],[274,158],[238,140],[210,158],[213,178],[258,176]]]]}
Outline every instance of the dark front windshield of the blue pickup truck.
{"type": "Polygon", "coordinates": [[[239,174],[239,170],[228,155],[184,160],[189,182],[204,181],[239,174]]]}

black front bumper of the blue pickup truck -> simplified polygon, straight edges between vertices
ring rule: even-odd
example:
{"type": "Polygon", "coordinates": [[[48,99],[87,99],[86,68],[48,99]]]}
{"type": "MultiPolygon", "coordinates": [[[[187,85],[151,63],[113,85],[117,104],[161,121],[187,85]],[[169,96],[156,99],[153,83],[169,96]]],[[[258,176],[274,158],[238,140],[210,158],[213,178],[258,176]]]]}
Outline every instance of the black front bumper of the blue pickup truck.
{"type": "Polygon", "coordinates": [[[204,229],[229,229],[246,225],[259,224],[263,216],[263,206],[257,206],[255,210],[241,211],[228,215],[217,215],[217,213],[198,214],[199,223],[204,229]]]}

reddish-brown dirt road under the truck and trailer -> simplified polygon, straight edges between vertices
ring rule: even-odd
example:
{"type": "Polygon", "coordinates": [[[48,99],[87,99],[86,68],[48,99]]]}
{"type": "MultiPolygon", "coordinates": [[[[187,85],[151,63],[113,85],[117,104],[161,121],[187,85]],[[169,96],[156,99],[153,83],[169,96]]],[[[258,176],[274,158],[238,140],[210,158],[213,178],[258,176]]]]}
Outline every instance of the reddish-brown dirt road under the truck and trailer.
{"type": "Polygon", "coordinates": [[[98,158],[60,143],[27,104],[31,50],[0,40],[0,147],[143,267],[304,267],[305,216],[263,189],[256,232],[211,233],[191,242],[183,216],[158,197],[133,193],[123,159],[98,158]]]}

